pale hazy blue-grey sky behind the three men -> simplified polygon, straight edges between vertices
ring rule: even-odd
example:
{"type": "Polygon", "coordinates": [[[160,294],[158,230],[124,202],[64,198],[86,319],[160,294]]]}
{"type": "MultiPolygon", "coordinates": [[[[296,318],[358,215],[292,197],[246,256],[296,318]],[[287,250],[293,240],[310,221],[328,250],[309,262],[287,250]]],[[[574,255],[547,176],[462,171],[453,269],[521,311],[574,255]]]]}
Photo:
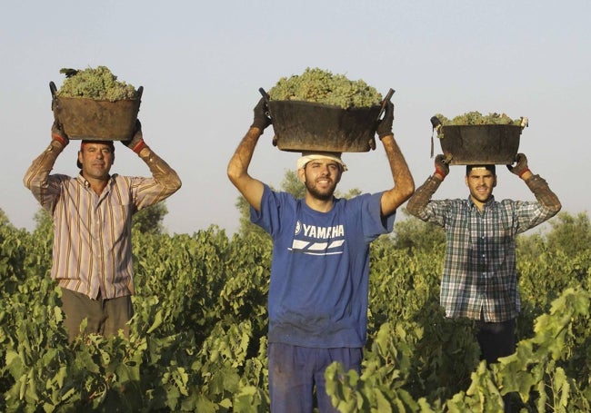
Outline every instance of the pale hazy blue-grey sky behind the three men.
{"type": "MultiPolygon", "coordinates": [[[[363,79],[382,93],[396,90],[394,131],[417,186],[433,172],[433,114],[527,116],[520,152],[559,196],[563,211],[587,211],[589,15],[586,0],[9,0],[0,15],[0,209],[15,226],[34,228],[39,207],[22,179],[50,140],[48,84],[62,84],[62,67],[105,65],[120,80],[144,86],[139,118],[145,141],[183,180],[166,201],[171,233],[210,225],[236,230],[238,192],[225,168],[252,122],[258,88],[268,90],[306,67],[363,79]]],[[[278,151],[272,137],[270,128],[251,173],[279,187],[298,155],[278,151]]],[[[77,173],[78,147],[73,141],[65,149],[54,172],[77,173]]],[[[379,144],[344,159],[349,171],[340,191],[378,192],[392,185],[379,144]]],[[[112,171],[149,173],[123,146],[112,171]]],[[[464,198],[463,172],[452,166],[436,197],[464,198]]],[[[497,175],[497,199],[533,200],[505,168],[497,175]]]]}

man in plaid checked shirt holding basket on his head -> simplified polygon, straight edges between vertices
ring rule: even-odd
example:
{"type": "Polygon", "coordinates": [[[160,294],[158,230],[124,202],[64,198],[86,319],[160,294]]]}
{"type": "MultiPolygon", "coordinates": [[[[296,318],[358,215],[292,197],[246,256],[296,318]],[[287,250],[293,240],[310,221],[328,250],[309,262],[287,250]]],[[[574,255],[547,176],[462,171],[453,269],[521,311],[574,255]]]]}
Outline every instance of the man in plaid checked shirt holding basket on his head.
{"type": "Polygon", "coordinates": [[[521,302],[516,277],[516,234],[529,230],[560,211],[560,201],[546,181],[527,167],[523,153],[516,165],[506,165],[526,182],[536,202],[493,196],[495,165],[467,165],[467,199],[431,201],[449,173],[443,155],[436,171],[416,190],[407,210],[434,222],[446,232],[446,262],[441,281],[441,305],[446,317],[477,320],[482,359],[496,362],[515,351],[516,317],[521,302]]]}

